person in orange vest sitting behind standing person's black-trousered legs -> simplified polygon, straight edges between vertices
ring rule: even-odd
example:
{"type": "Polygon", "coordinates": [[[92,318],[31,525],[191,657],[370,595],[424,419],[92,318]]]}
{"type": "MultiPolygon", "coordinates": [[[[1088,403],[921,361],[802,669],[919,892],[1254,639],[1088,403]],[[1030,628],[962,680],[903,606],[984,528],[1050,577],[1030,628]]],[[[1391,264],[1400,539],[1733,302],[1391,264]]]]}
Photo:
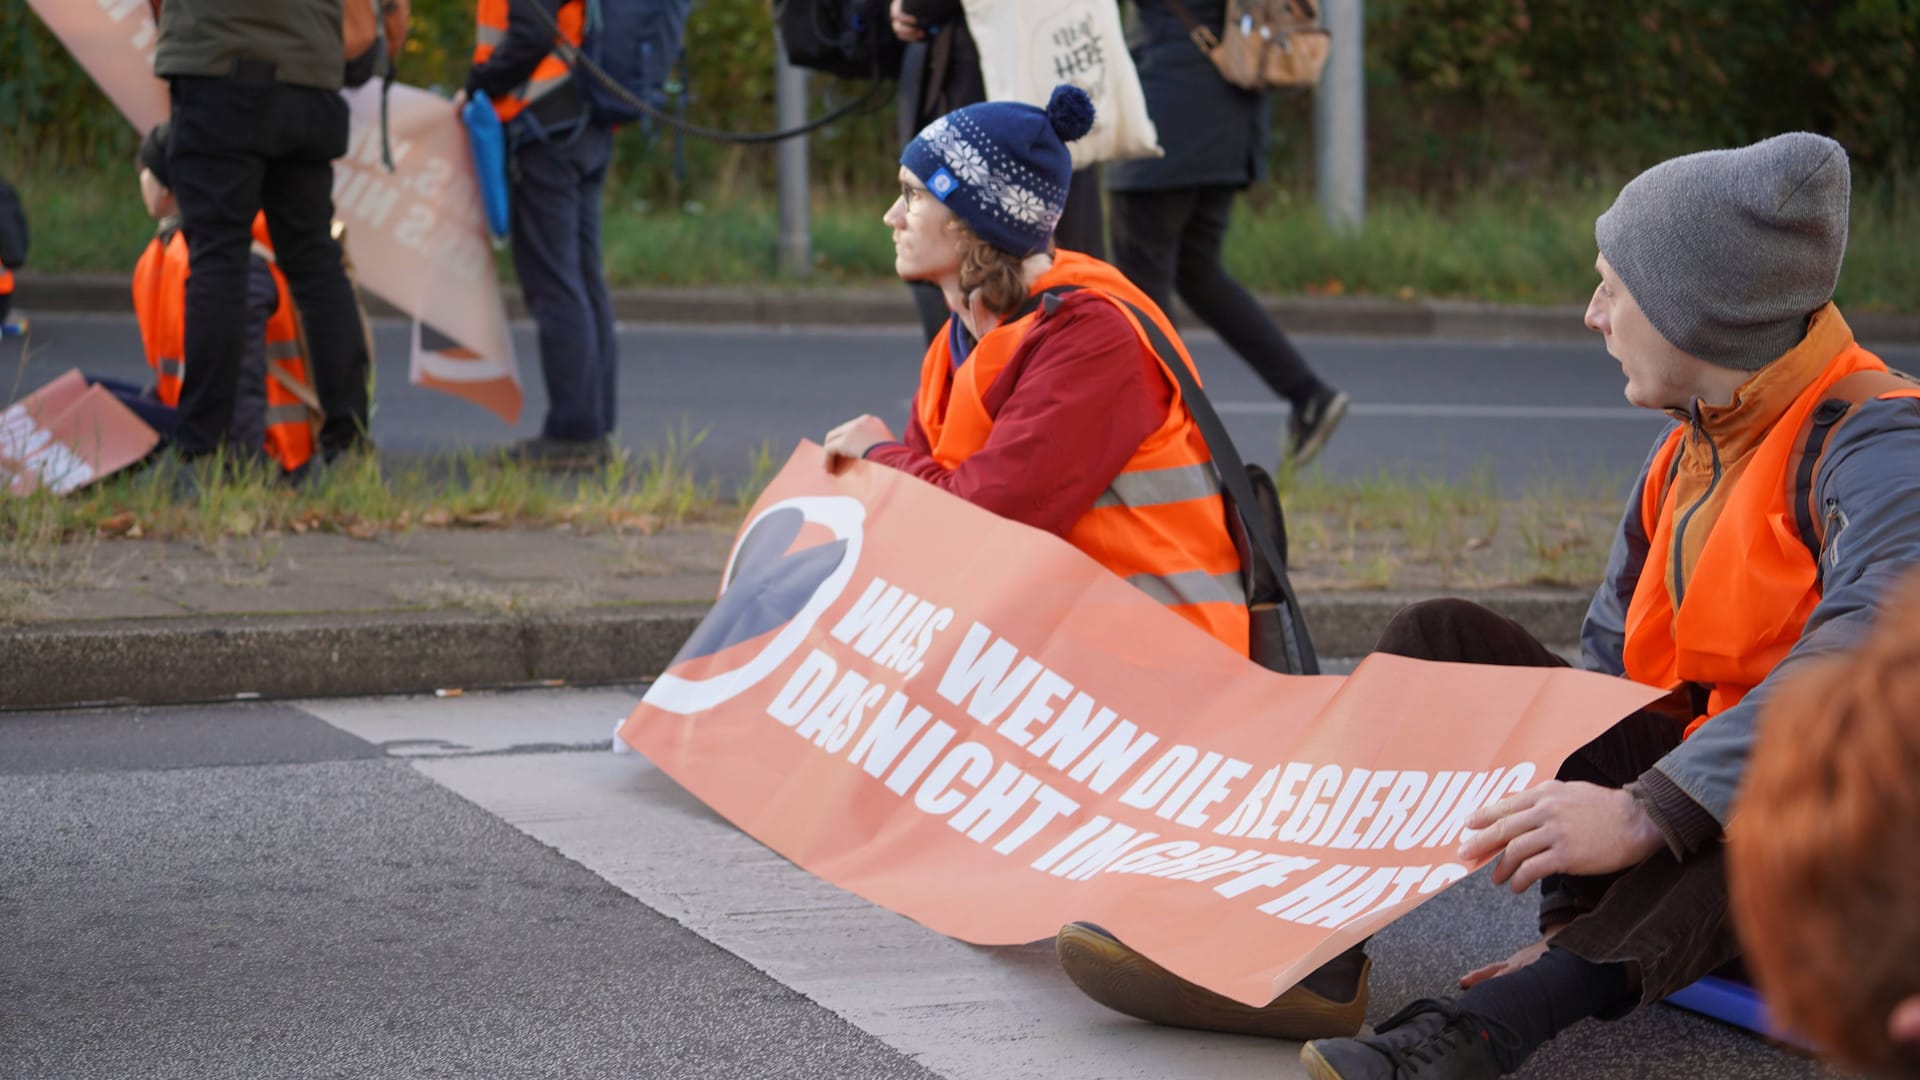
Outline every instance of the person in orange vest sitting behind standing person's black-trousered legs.
{"type": "MultiPolygon", "coordinates": [[[[144,390],[90,377],[161,436],[171,434],[179,423],[188,281],[186,234],[169,184],[167,135],[169,125],[159,123],[140,142],[140,198],[159,227],[132,275],[132,309],[140,321],[146,361],[154,369],[154,386],[144,390]]],[[[300,313],[288,296],[286,279],[273,263],[263,215],[253,221],[246,313],[246,352],[227,442],[234,448],[259,448],[282,471],[296,473],[313,457],[321,407],[307,375],[300,313]]]]}

